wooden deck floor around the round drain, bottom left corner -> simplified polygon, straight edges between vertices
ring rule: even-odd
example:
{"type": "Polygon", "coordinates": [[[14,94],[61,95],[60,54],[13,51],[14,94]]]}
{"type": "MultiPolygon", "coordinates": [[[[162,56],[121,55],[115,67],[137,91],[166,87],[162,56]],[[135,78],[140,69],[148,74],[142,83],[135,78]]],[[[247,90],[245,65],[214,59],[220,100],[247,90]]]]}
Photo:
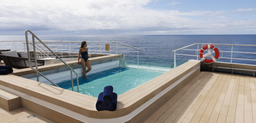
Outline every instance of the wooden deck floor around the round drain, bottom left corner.
{"type": "Polygon", "coordinates": [[[52,121],[30,112],[25,108],[18,108],[13,111],[7,111],[0,107],[0,122],[1,123],[53,123],[52,121]],[[30,115],[36,115],[35,118],[27,118],[30,115]]]}

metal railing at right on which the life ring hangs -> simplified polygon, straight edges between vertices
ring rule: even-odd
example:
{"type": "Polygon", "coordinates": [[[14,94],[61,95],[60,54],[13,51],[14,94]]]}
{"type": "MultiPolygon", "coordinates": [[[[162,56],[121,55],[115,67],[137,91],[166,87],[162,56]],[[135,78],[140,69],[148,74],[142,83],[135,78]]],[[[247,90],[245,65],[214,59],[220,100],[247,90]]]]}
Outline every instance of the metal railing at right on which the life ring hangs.
{"type": "MultiPolygon", "coordinates": [[[[207,45],[208,43],[206,43],[205,45],[207,45]]],[[[187,56],[196,56],[198,60],[198,52],[200,51],[199,49],[199,45],[203,45],[203,43],[195,43],[195,44],[191,44],[185,47],[182,47],[180,49],[174,50],[172,52],[174,52],[174,66],[176,66],[176,55],[187,55],[187,56]],[[187,47],[191,47],[197,45],[197,49],[186,49],[187,47]],[[189,50],[189,51],[197,51],[196,55],[189,55],[189,54],[177,54],[176,52],[179,50],[189,50]]],[[[246,44],[214,44],[214,45],[227,45],[227,46],[231,46],[231,51],[222,51],[222,52],[228,52],[231,53],[230,57],[221,57],[223,59],[230,59],[230,63],[232,63],[232,59],[237,59],[237,60],[249,60],[249,61],[256,61],[256,59],[242,59],[242,58],[233,58],[233,53],[248,53],[248,54],[256,54],[255,52],[236,52],[233,51],[233,46],[254,46],[256,48],[256,45],[246,45],[246,44]]]]}

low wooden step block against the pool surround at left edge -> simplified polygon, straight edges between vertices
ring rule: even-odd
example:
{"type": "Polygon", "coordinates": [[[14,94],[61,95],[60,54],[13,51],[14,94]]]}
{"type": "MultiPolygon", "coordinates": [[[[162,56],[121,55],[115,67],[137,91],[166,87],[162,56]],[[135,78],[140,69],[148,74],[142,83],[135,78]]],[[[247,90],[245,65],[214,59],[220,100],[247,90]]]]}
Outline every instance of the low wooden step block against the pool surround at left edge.
{"type": "Polygon", "coordinates": [[[0,107],[8,111],[21,107],[20,96],[0,89],[0,107]]]}

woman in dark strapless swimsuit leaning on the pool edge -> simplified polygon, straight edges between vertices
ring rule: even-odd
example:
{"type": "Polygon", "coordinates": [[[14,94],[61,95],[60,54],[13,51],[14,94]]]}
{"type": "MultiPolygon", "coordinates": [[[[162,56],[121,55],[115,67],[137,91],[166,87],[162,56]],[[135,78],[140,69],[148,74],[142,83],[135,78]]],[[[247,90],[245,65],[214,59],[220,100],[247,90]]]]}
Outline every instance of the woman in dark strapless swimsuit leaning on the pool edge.
{"type": "Polygon", "coordinates": [[[79,53],[78,53],[78,64],[82,64],[82,67],[83,67],[83,76],[85,78],[88,78],[86,77],[86,73],[89,72],[92,67],[91,67],[91,64],[88,60],[88,48],[87,48],[87,44],[85,41],[83,41],[81,43],[81,47],[79,48],[79,53]],[[80,59],[80,55],[82,55],[82,58],[81,58],[81,61],[79,62],[79,59],[80,59]],[[85,71],[86,69],[86,66],[87,66],[87,70],[85,71]]]}

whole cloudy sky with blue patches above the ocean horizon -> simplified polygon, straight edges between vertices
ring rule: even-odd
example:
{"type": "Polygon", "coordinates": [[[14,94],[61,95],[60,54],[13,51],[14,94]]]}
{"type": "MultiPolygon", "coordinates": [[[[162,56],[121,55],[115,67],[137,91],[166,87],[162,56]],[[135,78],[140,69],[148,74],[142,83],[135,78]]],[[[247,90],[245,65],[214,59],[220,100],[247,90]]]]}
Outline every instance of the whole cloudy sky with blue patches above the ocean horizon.
{"type": "Polygon", "coordinates": [[[0,35],[256,34],[256,0],[0,0],[0,35]]]}

